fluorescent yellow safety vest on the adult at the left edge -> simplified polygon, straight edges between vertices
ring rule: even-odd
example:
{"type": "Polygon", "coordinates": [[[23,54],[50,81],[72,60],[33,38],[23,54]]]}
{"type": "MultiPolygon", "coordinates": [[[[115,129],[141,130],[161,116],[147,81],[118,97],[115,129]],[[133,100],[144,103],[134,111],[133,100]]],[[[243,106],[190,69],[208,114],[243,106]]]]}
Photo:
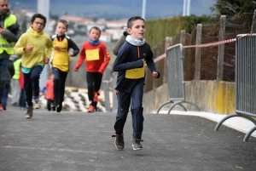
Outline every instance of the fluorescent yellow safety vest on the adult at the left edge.
{"type": "MultiPolygon", "coordinates": [[[[10,14],[8,17],[4,20],[4,28],[7,28],[9,26],[12,26],[16,23],[16,17],[14,14],[10,14]]],[[[14,44],[15,43],[9,43],[6,39],[3,38],[2,35],[0,35],[0,54],[3,54],[3,50],[7,54],[15,54],[14,50],[14,44]]]]}

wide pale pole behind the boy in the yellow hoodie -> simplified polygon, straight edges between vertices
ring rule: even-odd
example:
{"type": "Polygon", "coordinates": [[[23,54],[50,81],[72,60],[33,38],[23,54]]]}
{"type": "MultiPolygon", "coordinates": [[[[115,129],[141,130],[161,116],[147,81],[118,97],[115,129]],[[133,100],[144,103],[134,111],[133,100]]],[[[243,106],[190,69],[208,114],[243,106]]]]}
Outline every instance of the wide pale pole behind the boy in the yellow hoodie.
{"type": "MultiPolygon", "coordinates": [[[[46,25],[44,27],[44,33],[48,33],[48,23],[49,23],[49,0],[38,0],[38,13],[43,14],[46,17],[46,25]]],[[[48,80],[48,68],[49,65],[44,66],[44,70],[40,76],[39,87],[40,89],[44,87],[44,83],[48,80]]]]}

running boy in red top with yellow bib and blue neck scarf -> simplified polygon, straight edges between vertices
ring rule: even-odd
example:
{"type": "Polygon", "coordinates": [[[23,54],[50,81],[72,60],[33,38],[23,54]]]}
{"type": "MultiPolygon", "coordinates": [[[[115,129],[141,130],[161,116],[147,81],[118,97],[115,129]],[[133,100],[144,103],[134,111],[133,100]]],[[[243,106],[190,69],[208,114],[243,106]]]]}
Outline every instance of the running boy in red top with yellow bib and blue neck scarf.
{"type": "Polygon", "coordinates": [[[86,81],[90,100],[88,112],[94,112],[96,111],[98,91],[102,84],[102,74],[108,66],[110,55],[106,45],[99,40],[101,30],[98,27],[93,26],[90,28],[89,37],[89,40],[83,44],[79,61],[74,67],[74,71],[78,71],[86,59],[86,81]]]}

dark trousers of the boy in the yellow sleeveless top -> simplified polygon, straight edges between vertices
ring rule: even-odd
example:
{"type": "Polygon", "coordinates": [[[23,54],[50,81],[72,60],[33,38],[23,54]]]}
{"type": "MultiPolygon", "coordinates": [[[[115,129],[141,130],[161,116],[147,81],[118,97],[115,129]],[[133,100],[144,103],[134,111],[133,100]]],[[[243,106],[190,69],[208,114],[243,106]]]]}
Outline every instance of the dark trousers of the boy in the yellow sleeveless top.
{"type": "Polygon", "coordinates": [[[58,101],[61,104],[64,100],[67,71],[61,71],[58,68],[53,67],[52,72],[55,76],[54,78],[55,101],[58,101]]]}

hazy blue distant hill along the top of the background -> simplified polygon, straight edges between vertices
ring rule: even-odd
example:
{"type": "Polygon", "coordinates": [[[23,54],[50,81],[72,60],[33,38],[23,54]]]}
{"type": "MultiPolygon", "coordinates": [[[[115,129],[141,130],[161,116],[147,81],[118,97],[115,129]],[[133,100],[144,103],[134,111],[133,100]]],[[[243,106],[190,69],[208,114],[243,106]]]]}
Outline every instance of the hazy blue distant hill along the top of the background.
{"type": "MultiPolygon", "coordinates": [[[[37,10],[37,2],[31,0],[17,0],[10,2],[12,9],[37,10]]],[[[170,17],[183,14],[183,0],[147,0],[146,20],[170,17]]],[[[191,14],[210,14],[209,9],[213,0],[191,1],[191,14]],[[201,9],[201,10],[198,10],[201,9]]],[[[142,15],[143,0],[50,0],[50,13],[55,15],[73,14],[82,17],[96,17],[109,19],[129,18],[142,15]]]]}

